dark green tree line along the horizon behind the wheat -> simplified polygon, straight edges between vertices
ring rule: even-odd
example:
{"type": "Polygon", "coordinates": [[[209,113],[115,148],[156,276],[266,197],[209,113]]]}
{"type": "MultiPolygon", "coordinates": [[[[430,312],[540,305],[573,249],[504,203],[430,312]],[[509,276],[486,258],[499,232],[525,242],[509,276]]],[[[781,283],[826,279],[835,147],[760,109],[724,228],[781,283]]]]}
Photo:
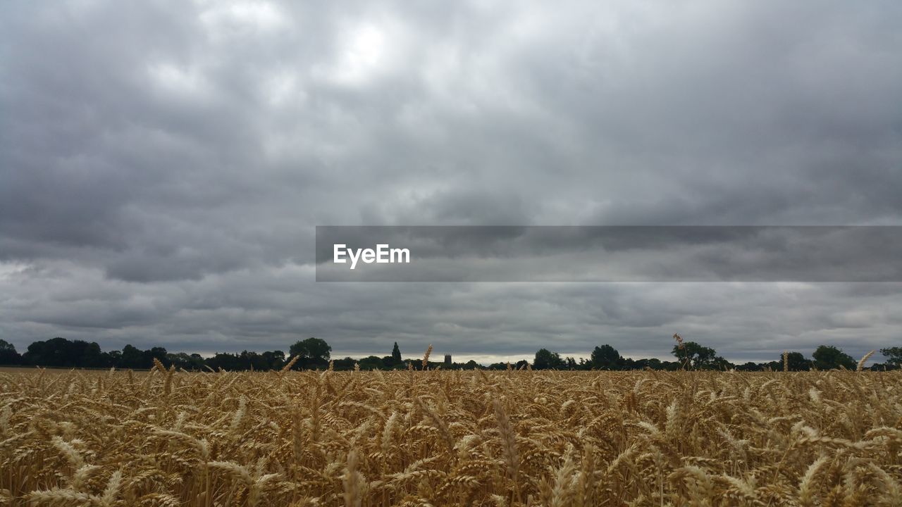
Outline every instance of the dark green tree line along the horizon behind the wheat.
{"type": "MultiPolygon", "coordinates": [[[[508,368],[535,370],[738,370],[738,371],[781,371],[802,372],[812,369],[831,370],[845,368],[854,370],[857,362],[851,355],[842,352],[835,346],[818,346],[812,358],[808,359],[801,352],[787,351],[776,360],[765,363],[732,364],[717,355],[716,351],[708,346],[702,346],[695,342],[684,342],[679,336],[671,353],[675,361],[661,361],[659,359],[632,359],[623,357],[610,345],[596,346],[588,359],[580,357],[561,357],[557,352],[551,352],[541,348],[536,352],[532,363],[521,360],[515,364],[495,363],[487,368],[490,370],[504,370],[508,368]]],[[[887,357],[883,364],[872,364],[871,370],[894,370],[902,367],[902,347],[894,346],[880,349],[880,354],[887,357]]],[[[142,350],[132,345],[126,345],[122,350],[104,352],[96,342],[83,340],[69,340],[55,337],[49,340],[36,341],[28,346],[23,354],[19,354],[12,344],[0,339],[0,365],[30,365],[44,367],[63,368],[118,368],[118,369],[149,369],[154,360],[160,361],[167,368],[175,366],[184,370],[213,370],[218,371],[266,371],[280,370],[289,364],[292,358],[296,358],[291,364],[292,369],[326,369],[334,370],[398,370],[398,369],[422,369],[424,367],[435,369],[439,366],[452,369],[485,369],[486,366],[475,361],[466,363],[445,364],[420,359],[402,359],[400,348],[395,342],[391,349],[391,355],[369,355],[354,359],[345,357],[332,359],[332,346],[325,340],[310,337],[299,340],[289,347],[288,354],[281,350],[266,351],[262,353],[244,350],[239,353],[216,353],[204,357],[199,354],[186,354],[184,352],[171,353],[164,347],[154,346],[142,350]]]]}

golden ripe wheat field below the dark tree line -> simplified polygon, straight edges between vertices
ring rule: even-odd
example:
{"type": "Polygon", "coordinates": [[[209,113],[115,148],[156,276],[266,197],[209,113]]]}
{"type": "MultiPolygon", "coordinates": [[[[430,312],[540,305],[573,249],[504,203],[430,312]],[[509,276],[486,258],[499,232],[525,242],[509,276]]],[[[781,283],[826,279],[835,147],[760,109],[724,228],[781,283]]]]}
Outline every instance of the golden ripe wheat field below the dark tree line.
{"type": "Polygon", "coordinates": [[[0,372],[0,504],[902,505],[899,373],[0,372]]]}

